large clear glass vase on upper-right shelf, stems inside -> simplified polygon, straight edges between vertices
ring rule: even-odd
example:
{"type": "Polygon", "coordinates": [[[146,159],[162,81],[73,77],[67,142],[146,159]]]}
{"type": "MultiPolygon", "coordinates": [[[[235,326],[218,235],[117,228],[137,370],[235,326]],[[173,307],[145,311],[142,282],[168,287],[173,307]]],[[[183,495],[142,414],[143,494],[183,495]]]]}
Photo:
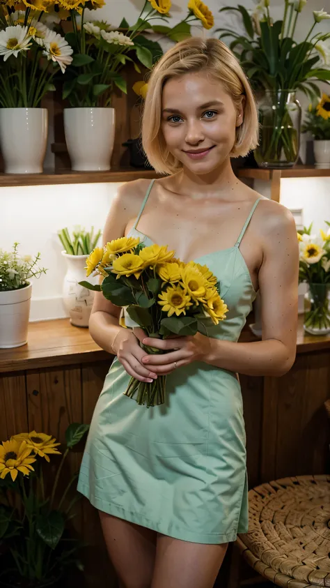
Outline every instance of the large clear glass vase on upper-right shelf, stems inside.
{"type": "Polygon", "coordinates": [[[259,167],[293,167],[299,157],[301,106],[289,90],[266,91],[259,104],[259,167]]]}

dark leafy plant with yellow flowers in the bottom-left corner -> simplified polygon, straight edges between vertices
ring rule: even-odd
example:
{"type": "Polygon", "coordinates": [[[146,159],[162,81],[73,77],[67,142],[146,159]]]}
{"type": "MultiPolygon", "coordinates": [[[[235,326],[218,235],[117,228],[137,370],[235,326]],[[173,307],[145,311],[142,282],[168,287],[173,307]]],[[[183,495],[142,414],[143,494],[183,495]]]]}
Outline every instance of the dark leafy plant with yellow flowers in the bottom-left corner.
{"type": "Polygon", "coordinates": [[[1,587],[55,587],[69,567],[82,567],[79,542],[68,529],[79,499],[77,491],[72,492],[77,474],[65,480],[61,493],[58,483],[68,453],[87,430],[88,425],[80,423],[66,430],[54,481],[49,479],[49,455],[58,460],[61,444],[51,435],[31,431],[0,444],[1,587]]]}

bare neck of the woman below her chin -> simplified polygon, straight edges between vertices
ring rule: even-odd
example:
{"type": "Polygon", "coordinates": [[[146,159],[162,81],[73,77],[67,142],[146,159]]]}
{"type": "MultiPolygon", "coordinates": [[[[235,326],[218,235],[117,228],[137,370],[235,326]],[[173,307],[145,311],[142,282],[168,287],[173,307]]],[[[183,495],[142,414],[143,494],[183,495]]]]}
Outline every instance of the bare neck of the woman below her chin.
{"type": "Polygon", "coordinates": [[[230,158],[208,174],[194,174],[191,169],[184,167],[173,176],[173,180],[179,193],[190,195],[193,198],[205,196],[221,198],[222,193],[228,197],[228,189],[237,187],[238,183],[231,167],[230,158]]]}

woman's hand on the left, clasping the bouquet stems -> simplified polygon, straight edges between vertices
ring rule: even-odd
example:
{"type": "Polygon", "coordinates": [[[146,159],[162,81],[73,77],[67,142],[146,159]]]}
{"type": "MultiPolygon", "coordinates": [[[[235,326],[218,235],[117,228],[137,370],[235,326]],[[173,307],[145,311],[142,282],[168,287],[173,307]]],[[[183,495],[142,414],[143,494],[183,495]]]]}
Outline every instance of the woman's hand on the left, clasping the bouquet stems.
{"type": "Polygon", "coordinates": [[[113,341],[113,351],[116,353],[118,361],[123,364],[127,374],[140,382],[153,382],[157,378],[157,374],[154,370],[150,371],[148,365],[144,367],[142,358],[146,352],[141,349],[138,342],[138,339],[142,340],[145,337],[146,333],[143,329],[134,329],[134,332],[129,329],[121,329],[113,341]]]}

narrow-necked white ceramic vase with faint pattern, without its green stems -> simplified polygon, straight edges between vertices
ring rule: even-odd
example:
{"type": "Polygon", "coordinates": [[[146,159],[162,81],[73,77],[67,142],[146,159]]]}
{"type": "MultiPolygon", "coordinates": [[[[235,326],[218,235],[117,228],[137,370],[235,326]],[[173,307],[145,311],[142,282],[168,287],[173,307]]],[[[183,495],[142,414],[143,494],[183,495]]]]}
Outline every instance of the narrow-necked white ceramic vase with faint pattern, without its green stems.
{"type": "Polygon", "coordinates": [[[63,282],[63,303],[70,316],[70,323],[75,326],[88,326],[93,306],[94,292],[79,282],[86,280],[92,284],[98,283],[98,276],[86,278],[86,259],[88,255],[69,255],[62,251],[68,264],[63,282]]]}

